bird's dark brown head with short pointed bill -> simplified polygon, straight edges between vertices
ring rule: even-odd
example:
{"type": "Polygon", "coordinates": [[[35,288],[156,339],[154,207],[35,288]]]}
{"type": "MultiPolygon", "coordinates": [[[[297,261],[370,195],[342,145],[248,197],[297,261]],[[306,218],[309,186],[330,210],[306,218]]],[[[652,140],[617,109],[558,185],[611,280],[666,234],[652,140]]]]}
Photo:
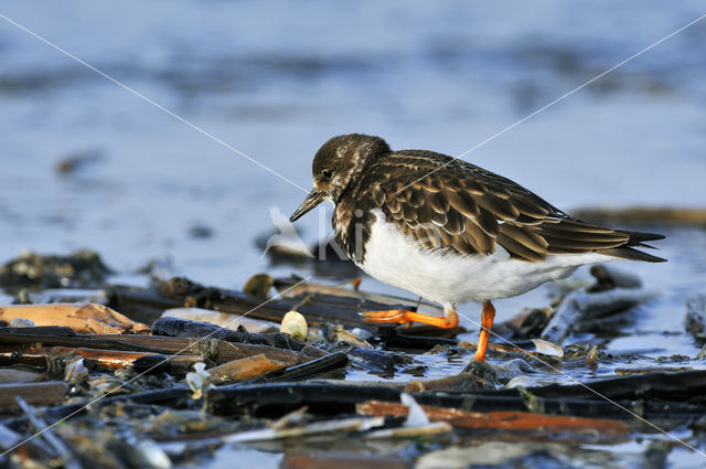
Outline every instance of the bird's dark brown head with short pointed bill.
{"type": "Polygon", "coordinates": [[[389,151],[382,138],[361,134],[340,135],[323,143],[313,157],[313,190],[289,221],[300,218],[323,201],[338,202],[371,159],[389,151]]]}

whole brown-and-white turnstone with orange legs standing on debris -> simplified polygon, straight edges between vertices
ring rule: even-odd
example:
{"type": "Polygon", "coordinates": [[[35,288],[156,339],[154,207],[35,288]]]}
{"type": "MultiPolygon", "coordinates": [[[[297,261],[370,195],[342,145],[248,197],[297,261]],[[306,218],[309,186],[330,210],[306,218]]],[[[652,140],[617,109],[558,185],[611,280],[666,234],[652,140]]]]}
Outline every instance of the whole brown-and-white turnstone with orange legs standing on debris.
{"type": "Polygon", "coordinates": [[[453,328],[457,305],[480,302],[479,361],[495,316],[491,300],[585,264],[665,260],[635,249],[662,235],[582,222],[502,175],[434,151],[392,151],[379,137],[327,141],[313,159],[313,190],[290,221],[323,201],[334,203],[333,230],[356,265],[445,309],[443,318],[407,310],[364,318],[453,328]]]}

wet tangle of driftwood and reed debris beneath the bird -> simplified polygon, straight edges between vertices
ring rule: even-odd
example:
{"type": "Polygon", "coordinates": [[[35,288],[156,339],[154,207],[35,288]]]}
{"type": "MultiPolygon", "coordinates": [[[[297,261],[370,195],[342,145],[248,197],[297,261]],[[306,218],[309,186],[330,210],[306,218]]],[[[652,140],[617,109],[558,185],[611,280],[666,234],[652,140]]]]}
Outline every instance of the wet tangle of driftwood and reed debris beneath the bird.
{"type": "MultiPolygon", "coordinates": [[[[300,280],[258,275],[247,291],[179,277],[18,291],[42,303],[0,306],[9,323],[0,326],[0,446],[65,418],[11,451],[15,466],[168,468],[264,448],[287,451],[291,467],[411,467],[491,443],[566,448],[649,437],[635,416],[666,430],[698,428],[706,370],[696,359],[609,355],[600,342],[609,334],[599,324],[654,294],[612,266],[591,274],[592,286],[500,324],[515,347],[491,343],[484,363],[471,361],[475,345],[457,338],[461,328],[364,322],[357,312],[416,301],[368,294],[357,280],[303,283],[281,298],[271,288],[300,280]],[[574,376],[587,377],[569,384],[574,376]]],[[[702,300],[687,306],[697,341],[702,300]]]]}

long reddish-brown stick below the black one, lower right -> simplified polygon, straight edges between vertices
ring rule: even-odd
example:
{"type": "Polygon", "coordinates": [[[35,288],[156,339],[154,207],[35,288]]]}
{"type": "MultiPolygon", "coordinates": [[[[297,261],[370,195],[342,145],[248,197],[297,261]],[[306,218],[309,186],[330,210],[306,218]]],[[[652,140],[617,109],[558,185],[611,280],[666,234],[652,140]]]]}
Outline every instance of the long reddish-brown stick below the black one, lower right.
{"type": "MultiPolygon", "coordinates": [[[[620,420],[545,415],[531,412],[478,413],[459,408],[421,406],[429,420],[447,422],[457,428],[484,430],[532,431],[553,435],[555,441],[588,439],[590,443],[627,441],[630,427],[620,420]]],[[[366,401],[356,406],[357,413],[374,416],[407,416],[409,408],[400,403],[366,401]]]]}

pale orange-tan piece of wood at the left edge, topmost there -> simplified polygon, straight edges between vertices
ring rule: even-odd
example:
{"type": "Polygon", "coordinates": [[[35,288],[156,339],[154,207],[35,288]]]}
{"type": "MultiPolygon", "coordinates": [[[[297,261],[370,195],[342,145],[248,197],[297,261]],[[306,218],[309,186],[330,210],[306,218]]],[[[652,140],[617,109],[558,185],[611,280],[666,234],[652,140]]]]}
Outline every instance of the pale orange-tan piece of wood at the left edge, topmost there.
{"type": "Polygon", "coordinates": [[[36,326],[64,326],[81,333],[141,333],[149,327],[103,305],[51,303],[0,306],[0,320],[28,319],[36,326]]]}

